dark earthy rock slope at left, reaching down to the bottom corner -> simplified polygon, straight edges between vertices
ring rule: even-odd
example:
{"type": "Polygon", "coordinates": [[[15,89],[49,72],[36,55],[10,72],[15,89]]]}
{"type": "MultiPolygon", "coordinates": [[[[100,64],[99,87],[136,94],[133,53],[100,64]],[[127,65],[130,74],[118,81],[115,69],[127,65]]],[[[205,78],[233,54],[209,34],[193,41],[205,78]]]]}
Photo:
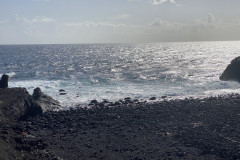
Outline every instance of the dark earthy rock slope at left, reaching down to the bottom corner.
{"type": "Polygon", "coordinates": [[[43,110],[25,88],[0,88],[0,159],[57,160],[46,152],[46,143],[32,135],[32,122],[20,123],[42,115],[43,110]]]}

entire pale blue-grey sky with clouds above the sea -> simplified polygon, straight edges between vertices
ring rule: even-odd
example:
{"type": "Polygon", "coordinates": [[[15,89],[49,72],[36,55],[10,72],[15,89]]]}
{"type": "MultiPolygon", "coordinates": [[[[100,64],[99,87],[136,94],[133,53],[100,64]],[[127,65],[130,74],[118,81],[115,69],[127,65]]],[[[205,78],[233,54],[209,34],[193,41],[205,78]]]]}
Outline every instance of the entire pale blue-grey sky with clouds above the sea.
{"type": "Polygon", "coordinates": [[[0,44],[240,40],[240,0],[0,0],[0,44]]]}

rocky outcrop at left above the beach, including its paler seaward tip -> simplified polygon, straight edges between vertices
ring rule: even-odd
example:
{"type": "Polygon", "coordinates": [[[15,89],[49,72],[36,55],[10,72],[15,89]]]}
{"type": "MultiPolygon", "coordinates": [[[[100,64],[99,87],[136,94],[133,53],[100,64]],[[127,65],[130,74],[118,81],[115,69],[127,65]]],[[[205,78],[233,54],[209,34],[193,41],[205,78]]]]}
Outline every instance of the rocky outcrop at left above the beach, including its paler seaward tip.
{"type": "Polygon", "coordinates": [[[0,122],[41,115],[59,106],[58,101],[42,93],[40,88],[33,95],[25,88],[0,88],[0,122]]]}

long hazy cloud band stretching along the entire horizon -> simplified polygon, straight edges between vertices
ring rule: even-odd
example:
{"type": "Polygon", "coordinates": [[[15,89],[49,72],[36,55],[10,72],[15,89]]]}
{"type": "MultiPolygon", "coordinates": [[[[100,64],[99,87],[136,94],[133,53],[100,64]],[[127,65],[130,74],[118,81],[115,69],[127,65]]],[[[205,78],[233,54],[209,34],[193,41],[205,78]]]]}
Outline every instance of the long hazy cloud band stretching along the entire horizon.
{"type": "MultiPolygon", "coordinates": [[[[128,16],[119,14],[115,18],[128,16]]],[[[118,43],[240,38],[237,34],[240,32],[240,19],[221,20],[211,13],[206,14],[205,18],[184,22],[160,17],[144,24],[111,20],[61,23],[45,16],[29,18],[15,15],[8,20],[0,20],[0,43],[118,43]]]]}

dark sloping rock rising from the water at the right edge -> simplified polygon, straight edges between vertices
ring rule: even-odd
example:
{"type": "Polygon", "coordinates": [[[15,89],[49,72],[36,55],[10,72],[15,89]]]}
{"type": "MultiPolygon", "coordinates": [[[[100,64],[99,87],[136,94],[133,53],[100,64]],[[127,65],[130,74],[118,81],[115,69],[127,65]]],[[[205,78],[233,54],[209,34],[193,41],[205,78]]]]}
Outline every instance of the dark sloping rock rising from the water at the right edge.
{"type": "Polygon", "coordinates": [[[219,78],[222,81],[240,82],[240,56],[233,59],[219,78]]]}

